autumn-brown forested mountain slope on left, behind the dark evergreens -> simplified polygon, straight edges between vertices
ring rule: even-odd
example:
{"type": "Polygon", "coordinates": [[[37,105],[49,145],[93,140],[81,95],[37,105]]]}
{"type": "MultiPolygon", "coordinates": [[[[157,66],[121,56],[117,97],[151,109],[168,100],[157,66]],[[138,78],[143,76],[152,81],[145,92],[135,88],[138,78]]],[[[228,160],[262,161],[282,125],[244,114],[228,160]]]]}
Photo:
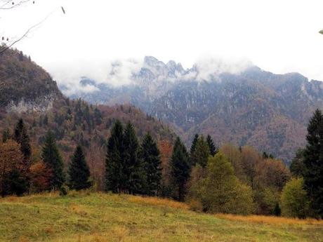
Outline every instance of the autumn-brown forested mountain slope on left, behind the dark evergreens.
{"type": "MultiPolygon", "coordinates": [[[[0,58],[0,133],[13,127],[22,118],[32,142],[32,159],[40,159],[44,135],[52,130],[62,152],[65,165],[77,144],[86,149],[98,188],[102,189],[105,142],[116,119],[133,123],[143,137],[148,131],[157,142],[172,142],[171,128],[145,114],[133,105],[90,105],[82,100],[65,98],[51,76],[14,50],[0,58]]],[[[93,173],[92,173],[93,174],[93,173]]]]}

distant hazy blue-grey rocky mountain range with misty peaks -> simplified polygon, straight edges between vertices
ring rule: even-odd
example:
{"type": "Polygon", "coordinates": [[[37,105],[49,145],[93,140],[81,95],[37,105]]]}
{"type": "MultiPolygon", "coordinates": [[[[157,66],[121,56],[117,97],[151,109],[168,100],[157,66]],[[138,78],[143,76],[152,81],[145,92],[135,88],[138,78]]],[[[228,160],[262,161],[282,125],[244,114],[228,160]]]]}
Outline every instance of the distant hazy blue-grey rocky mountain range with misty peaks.
{"type": "Polygon", "coordinates": [[[172,60],[164,64],[145,57],[128,84],[112,86],[83,77],[80,84],[95,91],[70,97],[109,105],[131,103],[171,123],[187,144],[195,133],[210,134],[218,144],[250,144],[288,163],[305,144],[312,112],[323,107],[323,82],[298,73],[272,74],[254,65],[211,66],[183,69],[172,60]]]}

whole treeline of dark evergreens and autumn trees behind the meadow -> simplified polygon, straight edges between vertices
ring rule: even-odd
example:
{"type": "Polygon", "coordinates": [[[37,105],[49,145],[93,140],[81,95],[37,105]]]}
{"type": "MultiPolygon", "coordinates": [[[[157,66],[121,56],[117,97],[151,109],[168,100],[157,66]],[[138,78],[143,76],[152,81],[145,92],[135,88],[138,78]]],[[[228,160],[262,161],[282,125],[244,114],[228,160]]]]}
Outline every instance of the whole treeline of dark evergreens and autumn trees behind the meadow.
{"type": "MultiPolygon", "coordinates": [[[[289,170],[279,159],[253,147],[217,147],[209,135],[195,135],[190,150],[180,137],[172,147],[159,146],[150,133],[140,141],[130,122],[117,120],[106,142],[104,189],[169,197],[207,213],[319,218],[323,216],[323,115],[319,110],[310,119],[306,138],[307,146],[296,153],[289,170]]],[[[22,120],[12,134],[5,130],[0,152],[2,196],[51,189],[66,194],[67,187],[79,190],[95,185],[81,145],[74,150],[65,175],[51,132],[44,138],[41,161],[33,163],[22,120]]]]}

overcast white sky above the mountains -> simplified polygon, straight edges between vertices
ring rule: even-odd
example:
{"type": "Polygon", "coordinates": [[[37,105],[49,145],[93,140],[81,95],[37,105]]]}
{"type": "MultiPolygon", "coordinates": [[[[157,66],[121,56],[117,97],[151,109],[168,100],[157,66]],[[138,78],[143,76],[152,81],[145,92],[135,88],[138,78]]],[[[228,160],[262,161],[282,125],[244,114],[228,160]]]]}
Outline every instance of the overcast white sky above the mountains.
{"type": "Polygon", "coordinates": [[[110,62],[145,55],[184,68],[249,60],[323,80],[322,10],[322,0],[35,0],[0,9],[0,35],[13,41],[42,21],[15,47],[58,83],[105,79],[110,62]]]}

